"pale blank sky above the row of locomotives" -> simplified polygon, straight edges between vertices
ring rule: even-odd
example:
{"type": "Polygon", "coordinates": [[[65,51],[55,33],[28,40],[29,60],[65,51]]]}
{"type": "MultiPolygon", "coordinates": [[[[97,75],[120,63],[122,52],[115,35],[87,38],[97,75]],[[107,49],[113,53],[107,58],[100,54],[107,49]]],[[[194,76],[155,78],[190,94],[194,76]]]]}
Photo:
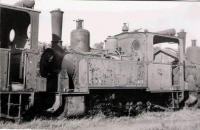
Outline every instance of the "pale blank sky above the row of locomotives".
{"type": "MultiPolygon", "coordinates": [[[[18,0],[0,0],[14,4],[18,0]]],[[[90,45],[104,42],[107,36],[121,33],[123,23],[129,31],[142,28],[157,32],[174,28],[187,32],[186,47],[196,39],[200,46],[200,2],[185,1],[69,1],[35,0],[34,9],[40,10],[39,41],[51,42],[50,11],[64,11],[62,41],[70,43],[70,32],[76,28],[73,20],[84,19],[84,29],[90,32],[90,45]]]]}

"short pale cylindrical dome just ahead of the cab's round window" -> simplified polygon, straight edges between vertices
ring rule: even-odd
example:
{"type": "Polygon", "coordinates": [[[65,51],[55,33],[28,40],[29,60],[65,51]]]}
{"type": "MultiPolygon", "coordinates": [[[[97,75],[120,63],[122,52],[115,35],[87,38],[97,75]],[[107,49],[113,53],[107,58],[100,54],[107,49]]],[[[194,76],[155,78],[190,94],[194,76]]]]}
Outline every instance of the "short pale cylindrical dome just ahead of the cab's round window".
{"type": "Polygon", "coordinates": [[[117,48],[117,38],[114,36],[109,36],[106,39],[105,49],[108,50],[108,53],[115,53],[117,48]]]}

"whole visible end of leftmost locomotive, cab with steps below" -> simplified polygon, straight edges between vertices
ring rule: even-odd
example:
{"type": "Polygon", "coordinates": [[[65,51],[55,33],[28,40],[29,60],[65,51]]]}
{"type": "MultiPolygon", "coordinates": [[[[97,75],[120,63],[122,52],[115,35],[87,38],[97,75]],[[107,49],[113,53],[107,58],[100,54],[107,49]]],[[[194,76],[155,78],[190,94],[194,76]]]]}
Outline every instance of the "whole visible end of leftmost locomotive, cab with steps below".
{"type": "Polygon", "coordinates": [[[46,89],[37,76],[40,12],[4,4],[0,12],[0,118],[20,120],[34,92],[46,89]]]}

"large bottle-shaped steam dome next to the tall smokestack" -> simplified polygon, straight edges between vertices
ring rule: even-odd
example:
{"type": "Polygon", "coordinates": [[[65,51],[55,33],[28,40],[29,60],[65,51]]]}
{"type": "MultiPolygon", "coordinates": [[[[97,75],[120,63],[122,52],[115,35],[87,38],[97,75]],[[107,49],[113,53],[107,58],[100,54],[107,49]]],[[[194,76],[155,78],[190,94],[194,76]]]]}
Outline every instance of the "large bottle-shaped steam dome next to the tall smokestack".
{"type": "Polygon", "coordinates": [[[90,32],[82,27],[83,20],[76,20],[76,29],[71,32],[70,48],[78,51],[90,51],[90,32]]]}

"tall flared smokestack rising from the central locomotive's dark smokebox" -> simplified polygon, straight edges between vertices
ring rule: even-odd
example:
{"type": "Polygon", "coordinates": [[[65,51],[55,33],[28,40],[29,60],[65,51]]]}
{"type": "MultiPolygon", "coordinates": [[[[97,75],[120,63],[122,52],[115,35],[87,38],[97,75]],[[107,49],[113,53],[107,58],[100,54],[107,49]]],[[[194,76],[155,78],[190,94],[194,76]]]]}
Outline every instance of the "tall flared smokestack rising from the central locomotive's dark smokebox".
{"type": "Polygon", "coordinates": [[[51,48],[62,48],[62,20],[63,11],[60,9],[51,11],[51,25],[52,25],[52,45],[51,48]]]}

